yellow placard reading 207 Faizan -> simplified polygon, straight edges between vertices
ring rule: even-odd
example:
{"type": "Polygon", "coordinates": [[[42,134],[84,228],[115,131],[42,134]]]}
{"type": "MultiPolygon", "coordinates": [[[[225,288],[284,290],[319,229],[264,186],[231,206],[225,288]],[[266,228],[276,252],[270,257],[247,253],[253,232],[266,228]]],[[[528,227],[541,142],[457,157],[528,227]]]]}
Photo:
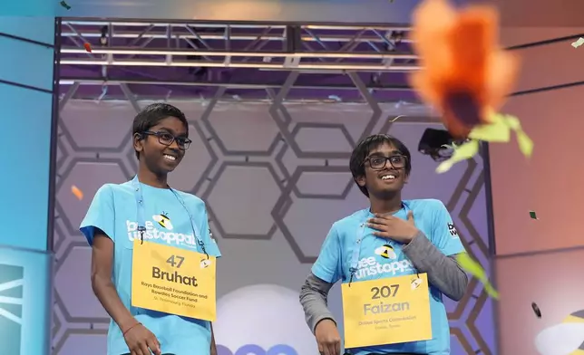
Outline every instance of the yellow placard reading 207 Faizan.
{"type": "Polygon", "coordinates": [[[432,339],[426,273],[343,283],[345,347],[432,339]]]}

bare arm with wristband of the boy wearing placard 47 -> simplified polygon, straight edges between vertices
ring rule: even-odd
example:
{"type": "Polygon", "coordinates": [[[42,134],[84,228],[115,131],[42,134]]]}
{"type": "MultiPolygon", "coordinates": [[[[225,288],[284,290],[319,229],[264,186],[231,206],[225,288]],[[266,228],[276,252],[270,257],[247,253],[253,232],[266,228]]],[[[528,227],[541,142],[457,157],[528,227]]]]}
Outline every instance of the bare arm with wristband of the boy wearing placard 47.
{"type": "Polygon", "coordinates": [[[131,350],[131,355],[160,355],[160,342],[151,331],[134,319],[123,305],[112,283],[113,241],[96,229],[92,245],[92,290],[103,308],[115,321],[131,350]],[[150,350],[149,350],[150,348],[150,350]]]}

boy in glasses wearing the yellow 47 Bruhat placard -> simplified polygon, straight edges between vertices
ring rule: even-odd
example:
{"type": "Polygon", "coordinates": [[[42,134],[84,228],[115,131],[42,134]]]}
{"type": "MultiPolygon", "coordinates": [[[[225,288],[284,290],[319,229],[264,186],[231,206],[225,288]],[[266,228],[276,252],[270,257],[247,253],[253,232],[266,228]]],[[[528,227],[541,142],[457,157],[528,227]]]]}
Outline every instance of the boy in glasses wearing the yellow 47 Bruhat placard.
{"type": "Polygon", "coordinates": [[[108,355],[216,355],[215,261],[204,202],[167,184],[190,146],[185,115],[154,103],[133,121],[136,177],[106,184],[81,224],[92,289],[112,317],[108,355]]]}

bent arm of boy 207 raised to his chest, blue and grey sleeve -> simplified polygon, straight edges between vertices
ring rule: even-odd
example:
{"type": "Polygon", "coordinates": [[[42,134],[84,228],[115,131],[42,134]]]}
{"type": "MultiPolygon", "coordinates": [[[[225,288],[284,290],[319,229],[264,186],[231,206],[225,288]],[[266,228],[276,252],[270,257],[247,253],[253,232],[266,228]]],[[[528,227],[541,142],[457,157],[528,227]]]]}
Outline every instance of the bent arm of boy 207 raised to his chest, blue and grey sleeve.
{"type": "Polygon", "coordinates": [[[432,235],[420,231],[403,251],[420,273],[428,274],[429,283],[453,301],[460,301],[468,277],[454,257],[464,253],[464,247],[446,206],[438,200],[433,202],[432,235]]]}

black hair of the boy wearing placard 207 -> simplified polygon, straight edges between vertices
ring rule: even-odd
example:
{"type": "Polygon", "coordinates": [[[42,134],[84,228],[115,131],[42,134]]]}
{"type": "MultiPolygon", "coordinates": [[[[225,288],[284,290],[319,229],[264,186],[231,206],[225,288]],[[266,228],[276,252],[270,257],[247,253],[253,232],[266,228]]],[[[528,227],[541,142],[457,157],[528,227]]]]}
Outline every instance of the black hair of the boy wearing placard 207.
{"type": "MultiPolygon", "coordinates": [[[[400,153],[404,155],[405,175],[410,175],[410,171],[412,171],[412,156],[410,155],[410,150],[405,147],[405,144],[401,140],[388,134],[374,134],[373,136],[362,139],[357,143],[355,149],[353,149],[353,153],[351,153],[349,168],[351,169],[351,174],[353,174],[355,183],[357,182],[358,177],[363,177],[365,175],[365,158],[367,158],[371,150],[384,144],[394,146],[395,149],[399,150],[400,153]]],[[[366,187],[361,187],[358,184],[357,186],[366,197],[369,197],[369,192],[366,187]]]]}

